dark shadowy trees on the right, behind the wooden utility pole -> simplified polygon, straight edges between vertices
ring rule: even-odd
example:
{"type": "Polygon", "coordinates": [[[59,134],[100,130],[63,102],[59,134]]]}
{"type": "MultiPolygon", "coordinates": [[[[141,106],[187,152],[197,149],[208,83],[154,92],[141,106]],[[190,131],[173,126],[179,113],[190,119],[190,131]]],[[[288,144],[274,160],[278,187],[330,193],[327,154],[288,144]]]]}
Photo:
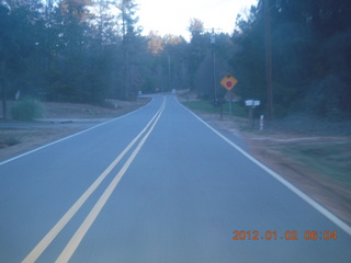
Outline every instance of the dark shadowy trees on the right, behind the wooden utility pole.
{"type": "MultiPolygon", "coordinates": [[[[237,19],[231,65],[244,98],[265,101],[264,8],[237,19]]],[[[351,5],[348,0],[269,0],[275,116],[308,112],[351,117],[351,5]]]]}

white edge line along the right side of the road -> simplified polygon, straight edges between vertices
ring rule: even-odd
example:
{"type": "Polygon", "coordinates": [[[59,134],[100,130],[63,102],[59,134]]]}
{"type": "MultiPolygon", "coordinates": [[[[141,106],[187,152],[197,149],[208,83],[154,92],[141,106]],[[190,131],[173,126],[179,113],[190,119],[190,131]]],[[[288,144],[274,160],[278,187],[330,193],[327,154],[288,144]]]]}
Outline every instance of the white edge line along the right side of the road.
{"type": "Polygon", "coordinates": [[[333,224],[336,224],[339,228],[341,228],[343,231],[346,231],[348,235],[351,236],[351,227],[342,221],[339,217],[333,215],[331,211],[326,209],[324,206],[321,206],[319,203],[314,201],[312,197],[303,193],[301,190],[298,190],[296,186],[291,184],[288,181],[283,179],[281,175],[279,175],[276,172],[273,170],[269,169],[265,167],[263,163],[254,159],[252,156],[247,153],[245,150],[242,150],[239,146],[234,144],[231,140],[229,140],[227,137],[222,135],[218,130],[216,130],[214,127],[208,125],[205,121],[203,121],[201,117],[199,117],[195,113],[190,111],[188,107],[185,107],[183,104],[179,102],[178,99],[176,99],[177,102],[184,107],[188,112],[190,112],[194,117],[196,117],[201,123],[203,123],[207,128],[210,128],[213,133],[215,133],[217,136],[219,136],[222,139],[224,139],[226,142],[228,142],[231,147],[234,147],[236,150],[238,150],[241,155],[244,155],[246,158],[248,158],[250,161],[252,161],[254,164],[263,169],[265,172],[271,174],[274,179],[276,179],[279,182],[281,182],[283,185],[285,185],[287,188],[290,188],[292,192],[294,192],[296,195],[298,195],[301,198],[303,198],[305,202],[307,202],[309,205],[312,205],[316,210],[321,213],[325,217],[327,217],[329,220],[331,220],[333,224]]]}

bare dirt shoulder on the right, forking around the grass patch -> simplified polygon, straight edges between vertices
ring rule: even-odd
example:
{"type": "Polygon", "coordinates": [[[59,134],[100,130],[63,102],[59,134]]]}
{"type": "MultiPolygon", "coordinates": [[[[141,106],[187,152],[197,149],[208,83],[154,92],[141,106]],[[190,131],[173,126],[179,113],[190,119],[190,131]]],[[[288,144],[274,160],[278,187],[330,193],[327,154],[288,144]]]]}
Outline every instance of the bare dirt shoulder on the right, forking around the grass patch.
{"type": "Polygon", "coordinates": [[[332,176],[316,171],[308,167],[305,160],[298,161],[288,155],[283,155],[286,146],[321,144],[350,144],[348,136],[302,136],[296,133],[257,133],[244,132],[244,119],[194,111],[208,125],[248,151],[264,165],[280,174],[283,179],[321,204],[333,215],[351,226],[351,188],[349,185],[335,180],[332,176]],[[241,141],[241,142],[240,142],[241,141]]]}

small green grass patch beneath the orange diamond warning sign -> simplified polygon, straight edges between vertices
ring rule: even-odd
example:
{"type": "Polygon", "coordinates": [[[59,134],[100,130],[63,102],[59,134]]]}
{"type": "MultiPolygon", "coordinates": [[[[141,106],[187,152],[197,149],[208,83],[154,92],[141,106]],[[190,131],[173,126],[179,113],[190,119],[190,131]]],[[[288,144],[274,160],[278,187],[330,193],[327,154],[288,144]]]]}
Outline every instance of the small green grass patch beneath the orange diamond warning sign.
{"type": "MultiPolygon", "coordinates": [[[[201,111],[204,113],[216,113],[216,114],[220,113],[220,107],[214,106],[208,101],[185,101],[182,103],[184,106],[194,111],[201,111]]],[[[229,114],[229,102],[223,105],[223,113],[226,115],[229,114]]],[[[231,103],[231,114],[233,116],[237,116],[237,117],[248,116],[246,110],[237,103],[231,103]]]]}

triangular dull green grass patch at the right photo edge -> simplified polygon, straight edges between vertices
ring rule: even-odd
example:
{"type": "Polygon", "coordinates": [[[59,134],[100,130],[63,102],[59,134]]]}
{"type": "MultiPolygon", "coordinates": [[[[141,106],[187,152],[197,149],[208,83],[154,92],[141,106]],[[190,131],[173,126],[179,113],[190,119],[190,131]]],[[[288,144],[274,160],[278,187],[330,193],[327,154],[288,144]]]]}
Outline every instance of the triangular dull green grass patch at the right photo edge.
{"type": "Polygon", "coordinates": [[[287,145],[282,155],[309,170],[330,176],[351,188],[351,141],[319,141],[287,145]]]}

